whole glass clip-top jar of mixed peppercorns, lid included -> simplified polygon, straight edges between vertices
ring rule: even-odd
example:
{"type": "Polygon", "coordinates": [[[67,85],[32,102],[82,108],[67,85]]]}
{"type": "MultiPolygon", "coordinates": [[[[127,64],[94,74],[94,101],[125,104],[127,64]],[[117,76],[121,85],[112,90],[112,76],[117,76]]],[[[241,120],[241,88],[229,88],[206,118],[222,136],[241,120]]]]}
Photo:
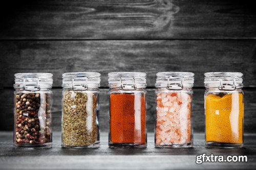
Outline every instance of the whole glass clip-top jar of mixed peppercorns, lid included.
{"type": "Polygon", "coordinates": [[[17,73],[14,84],[14,146],[52,148],[52,74],[17,73]]]}

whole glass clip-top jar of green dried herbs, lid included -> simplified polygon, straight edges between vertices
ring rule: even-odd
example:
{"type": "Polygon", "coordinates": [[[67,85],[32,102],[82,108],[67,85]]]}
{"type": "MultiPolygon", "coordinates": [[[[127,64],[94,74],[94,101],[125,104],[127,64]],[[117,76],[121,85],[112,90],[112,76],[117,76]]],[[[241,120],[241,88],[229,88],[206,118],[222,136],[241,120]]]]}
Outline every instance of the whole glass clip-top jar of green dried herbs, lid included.
{"type": "Polygon", "coordinates": [[[62,75],[62,147],[99,148],[98,72],[62,75]]]}

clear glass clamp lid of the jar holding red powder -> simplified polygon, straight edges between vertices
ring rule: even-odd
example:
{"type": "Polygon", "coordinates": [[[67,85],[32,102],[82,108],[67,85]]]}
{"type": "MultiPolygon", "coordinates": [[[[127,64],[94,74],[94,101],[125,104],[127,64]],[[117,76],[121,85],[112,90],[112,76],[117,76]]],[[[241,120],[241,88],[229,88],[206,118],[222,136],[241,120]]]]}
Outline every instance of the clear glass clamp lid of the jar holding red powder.
{"type": "Polygon", "coordinates": [[[136,90],[146,87],[145,72],[110,72],[109,87],[121,90],[136,90]]]}

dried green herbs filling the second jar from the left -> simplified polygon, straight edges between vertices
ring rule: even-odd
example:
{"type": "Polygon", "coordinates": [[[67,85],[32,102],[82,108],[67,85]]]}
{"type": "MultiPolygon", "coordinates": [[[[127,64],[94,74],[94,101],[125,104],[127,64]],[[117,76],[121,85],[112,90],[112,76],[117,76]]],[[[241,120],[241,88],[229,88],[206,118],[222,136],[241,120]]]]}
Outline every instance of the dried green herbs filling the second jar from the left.
{"type": "Polygon", "coordinates": [[[67,146],[88,146],[98,139],[97,93],[63,92],[62,142],[67,146]]]}

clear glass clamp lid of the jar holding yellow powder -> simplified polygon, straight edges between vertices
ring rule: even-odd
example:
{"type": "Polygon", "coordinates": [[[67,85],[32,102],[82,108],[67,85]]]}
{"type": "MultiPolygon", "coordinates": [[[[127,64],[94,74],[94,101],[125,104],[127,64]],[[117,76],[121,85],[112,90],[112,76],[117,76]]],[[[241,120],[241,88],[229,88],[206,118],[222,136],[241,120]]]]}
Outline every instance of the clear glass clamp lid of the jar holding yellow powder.
{"type": "Polygon", "coordinates": [[[204,76],[206,88],[235,90],[243,87],[243,74],[241,72],[206,72],[204,76]]]}

